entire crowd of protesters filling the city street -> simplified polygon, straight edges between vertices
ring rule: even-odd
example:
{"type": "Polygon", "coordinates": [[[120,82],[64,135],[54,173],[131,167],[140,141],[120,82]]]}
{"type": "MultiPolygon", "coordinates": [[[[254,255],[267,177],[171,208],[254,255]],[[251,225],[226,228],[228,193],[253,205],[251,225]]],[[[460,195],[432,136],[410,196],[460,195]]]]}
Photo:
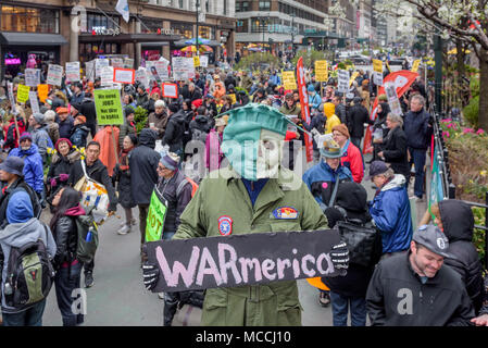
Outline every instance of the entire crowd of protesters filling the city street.
{"type": "MultiPolygon", "coordinates": [[[[109,216],[122,207],[125,219],[118,235],[139,227],[140,265],[148,289],[159,277],[145,248],[150,199],[157,189],[167,208],[162,239],[220,235],[215,223],[222,215],[241,216],[234,234],[275,231],[270,216],[281,206],[303,213],[290,231],[370,233],[373,237],[361,256],[353,251],[353,238],[349,248],[336,246],[331,259],[343,272],[320,281],[318,303],[331,303],[334,325],[347,325],[348,312],[358,326],[366,325],[367,314],[372,325],[488,325],[470,208],[455,200],[439,202],[433,223],[426,221],[416,231],[412,223],[409,192],[413,186],[410,196],[425,200],[425,161],[434,122],[425,86],[420,78],[411,86],[399,115],[390,111],[386,96],[375,95],[371,77],[359,71],[346,96],[337,91],[337,80],[316,82],[310,69],[310,123],[303,120],[299,91],[285,90],[274,70],[258,76],[249,71],[201,70],[191,80],[176,82],[175,99],[163,98],[155,82],[124,85],[124,124],[115,126],[97,124],[93,90],[102,88],[100,78],[52,87],[46,101],[39,101],[40,112],[33,112],[28,102],[10,105],[8,96],[0,96],[3,325],[41,325],[46,297],[18,309],[4,290],[10,284],[12,248],[39,238],[52,259],[63,325],[84,322],[83,314],[71,311],[71,294],[80,287],[82,273],[86,287],[95,284],[95,256],[87,262],[77,257],[79,219],[89,211],[75,188],[85,176],[107,189],[109,216]],[[371,120],[376,97],[378,113],[371,120]],[[368,173],[365,125],[372,125],[375,134],[368,173]],[[300,173],[295,149],[302,149],[309,135],[313,135],[313,165],[300,173]],[[272,152],[263,160],[263,174],[260,157],[236,156],[226,146],[230,140],[239,146],[261,140],[265,151],[273,151],[273,141],[283,141],[283,158],[281,152],[272,152]],[[275,175],[281,167],[299,173],[298,188],[283,188],[275,175]],[[230,184],[212,177],[217,170],[230,171],[226,176],[230,184]],[[365,187],[372,184],[376,192],[368,201],[365,187]],[[271,201],[272,206],[263,206],[271,201]],[[466,213],[454,219],[453,212],[462,209],[466,213]],[[42,223],[41,214],[52,215],[49,224],[42,223]]],[[[13,80],[14,98],[21,82],[13,80]]],[[[259,306],[251,312],[246,307],[251,287],[160,293],[164,324],[171,325],[183,302],[202,307],[202,323],[208,325],[301,324],[296,282],[258,287],[271,295],[256,299],[259,306]],[[227,298],[225,303],[222,298],[227,298]]]]}

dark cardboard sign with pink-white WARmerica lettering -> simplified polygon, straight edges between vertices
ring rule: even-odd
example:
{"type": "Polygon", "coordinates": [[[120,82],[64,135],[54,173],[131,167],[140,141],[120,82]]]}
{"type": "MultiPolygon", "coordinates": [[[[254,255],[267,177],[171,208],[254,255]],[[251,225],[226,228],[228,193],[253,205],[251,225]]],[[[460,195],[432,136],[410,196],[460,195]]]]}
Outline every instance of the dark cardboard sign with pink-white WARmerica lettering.
{"type": "Polygon", "coordinates": [[[147,244],[160,269],[152,290],[185,291],[337,276],[330,261],[338,231],[278,232],[147,244]]]}

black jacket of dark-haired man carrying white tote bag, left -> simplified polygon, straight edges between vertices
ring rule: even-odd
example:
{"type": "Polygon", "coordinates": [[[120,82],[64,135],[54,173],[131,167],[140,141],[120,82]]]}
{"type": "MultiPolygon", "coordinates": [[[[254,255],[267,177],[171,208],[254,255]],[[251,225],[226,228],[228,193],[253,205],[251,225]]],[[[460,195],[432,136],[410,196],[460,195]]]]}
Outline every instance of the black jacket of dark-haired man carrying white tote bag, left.
{"type": "MultiPolygon", "coordinates": [[[[86,164],[86,160],[83,161],[85,162],[88,177],[105,186],[110,201],[109,211],[116,211],[117,197],[112,185],[112,179],[109,176],[109,172],[107,171],[107,166],[100,160],[95,161],[91,166],[88,166],[86,164]]],[[[67,179],[67,185],[75,186],[84,175],[85,174],[83,173],[82,161],[76,161],[70,170],[70,178],[67,179]]]]}

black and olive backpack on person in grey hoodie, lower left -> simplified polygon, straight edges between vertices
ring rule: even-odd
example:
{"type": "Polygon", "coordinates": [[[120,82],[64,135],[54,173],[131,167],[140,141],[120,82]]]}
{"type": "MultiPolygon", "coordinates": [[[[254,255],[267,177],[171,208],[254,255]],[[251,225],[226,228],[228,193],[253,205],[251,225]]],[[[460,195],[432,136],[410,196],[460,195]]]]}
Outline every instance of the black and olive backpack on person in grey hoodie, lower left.
{"type": "MultiPolygon", "coordinates": [[[[46,240],[48,240],[48,228],[46,240]]],[[[25,310],[48,297],[54,279],[54,268],[41,239],[21,248],[12,247],[3,288],[5,303],[25,310]]]]}

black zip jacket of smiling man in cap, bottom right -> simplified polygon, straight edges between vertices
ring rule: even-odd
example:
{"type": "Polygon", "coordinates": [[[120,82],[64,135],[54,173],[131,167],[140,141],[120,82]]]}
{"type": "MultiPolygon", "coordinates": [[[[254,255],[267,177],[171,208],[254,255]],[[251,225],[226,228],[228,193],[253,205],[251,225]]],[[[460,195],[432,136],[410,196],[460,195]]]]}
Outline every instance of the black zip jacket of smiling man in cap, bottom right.
{"type": "Polygon", "coordinates": [[[367,287],[372,325],[467,326],[475,316],[461,277],[448,265],[425,284],[405,251],[379,262],[367,287]]]}

